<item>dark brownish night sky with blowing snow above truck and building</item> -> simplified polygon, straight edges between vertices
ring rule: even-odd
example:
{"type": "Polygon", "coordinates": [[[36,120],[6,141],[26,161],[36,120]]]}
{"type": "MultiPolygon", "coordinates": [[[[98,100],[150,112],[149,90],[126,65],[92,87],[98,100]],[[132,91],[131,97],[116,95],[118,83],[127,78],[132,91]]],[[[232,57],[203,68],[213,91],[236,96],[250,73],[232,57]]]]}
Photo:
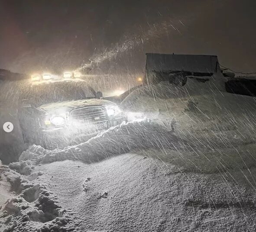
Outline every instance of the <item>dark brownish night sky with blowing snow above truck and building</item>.
{"type": "Polygon", "coordinates": [[[256,71],[255,0],[0,0],[0,68],[142,73],[146,52],[256,71]],[[85,65],[85,66],[84,66],[85,65]]]}

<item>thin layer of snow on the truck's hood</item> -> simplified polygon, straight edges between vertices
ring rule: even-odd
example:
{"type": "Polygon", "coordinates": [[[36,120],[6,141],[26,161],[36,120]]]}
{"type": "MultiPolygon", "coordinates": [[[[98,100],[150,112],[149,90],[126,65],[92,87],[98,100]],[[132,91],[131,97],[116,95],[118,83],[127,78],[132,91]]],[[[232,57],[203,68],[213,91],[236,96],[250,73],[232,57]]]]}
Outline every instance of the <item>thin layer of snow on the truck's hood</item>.
{"type": "Polygon", "coordinates": [[[64,102],[53,102],[49,104],[44,104],[39,106],[39,109],[44,111],[52,111],[55,109],[72,109],[80,106],[106,106],[106,105],[116,105],[113,102],[104,99],[82,99],[82,100],[72,100],[64,102]]]}

